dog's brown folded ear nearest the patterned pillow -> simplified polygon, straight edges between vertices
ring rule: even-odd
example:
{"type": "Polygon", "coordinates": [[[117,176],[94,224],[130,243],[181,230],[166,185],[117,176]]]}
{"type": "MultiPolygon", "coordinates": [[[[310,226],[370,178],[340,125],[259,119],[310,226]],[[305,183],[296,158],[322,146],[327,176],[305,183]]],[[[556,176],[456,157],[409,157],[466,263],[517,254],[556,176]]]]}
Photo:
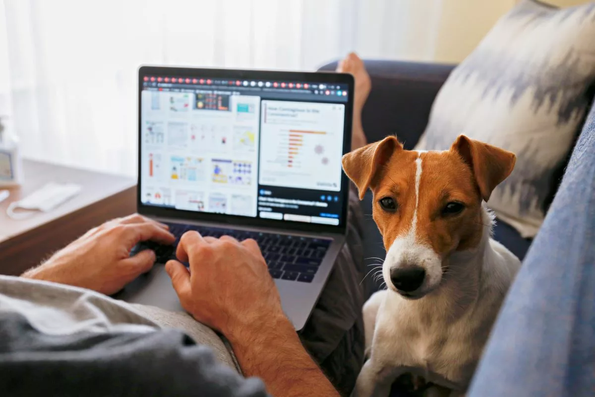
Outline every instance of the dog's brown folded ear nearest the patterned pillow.
{"type": "Polygon", "coordinates": [[[490,199],[491,191],[506,179],[515,167],[514,153],[478,140],[459,135],[450,150],[458,153],[471,167],[475,182],[484,201],[490,199]]]}

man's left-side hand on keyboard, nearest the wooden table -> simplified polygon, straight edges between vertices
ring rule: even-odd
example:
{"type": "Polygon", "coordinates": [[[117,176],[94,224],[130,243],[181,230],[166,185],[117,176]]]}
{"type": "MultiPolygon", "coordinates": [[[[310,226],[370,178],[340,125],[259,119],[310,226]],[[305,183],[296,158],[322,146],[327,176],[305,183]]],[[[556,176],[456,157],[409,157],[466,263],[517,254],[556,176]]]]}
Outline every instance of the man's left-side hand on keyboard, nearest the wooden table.
{"type": "Polygon", "coordinates": [[[130,257],[136,243],[176,240],[165,224],[142,215],[118,218],[89,230],[23,277],[83,287],[111,295],[149,271],[155,253],[149,249],[130,257]]]}

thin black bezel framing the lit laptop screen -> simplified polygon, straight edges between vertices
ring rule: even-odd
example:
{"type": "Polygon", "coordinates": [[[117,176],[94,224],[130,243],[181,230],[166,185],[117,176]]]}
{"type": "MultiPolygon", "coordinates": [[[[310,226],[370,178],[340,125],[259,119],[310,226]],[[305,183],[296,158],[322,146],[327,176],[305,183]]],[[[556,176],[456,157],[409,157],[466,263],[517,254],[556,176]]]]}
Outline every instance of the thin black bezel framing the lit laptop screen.
{"type": "MultiPolygon", "coordinates": [[[[178,210],[176,208],[160,208],[152,205],[145,205],[141,202],[141,165],[142,156],[140,147],[142,145],[142,90],[143,77],[154,75],[176,76],[176,77],[205,77],[216,79],[253,79],[253,80],[284,80],[296,82],[317,82],[317,83],[339,83],[346,84],[347,102],[345,102],[345,120],[343,120],[343,154],[350,151],[352,137],[352,118],[353,118],[353,76],[346,73],[324,73],[324,72],[294,72],[294,71],[264,71],[264,70],[237,70],[237,69],[210,69],[210,68],[186,68],[186,67],[162,67],[146,66],[139,68],[138,73],[138,150],[137,155],[137,212],[142,215],[151,215],[154,217],[173,218],[187,221],[205,221],[222,224],[234,224],[239,226],[255,226],[270,229],[287,229],[302,232],[317,233],[339,233],[344,235],[347,227],[347,207],[349,205],[349,179],[345,172],[341,173],[341,192],[343,193],[343,205],[339,218],[339,225],[331,226],[318,223],[301,223],[295,221],[262,219],[258,217],[244,217],[241,215],[213,214],[211,212],[197,212],[188,210],[178,210]]],[[[312,101],[316,102],[316,101],[312,101]]],[[[322,102],[322,101],[321,101],[322,102]]],[[[326,101],[325,101],[326,103],[326,101]]],[[[256,181],[258,183],[258,181],[256,181]]]]}

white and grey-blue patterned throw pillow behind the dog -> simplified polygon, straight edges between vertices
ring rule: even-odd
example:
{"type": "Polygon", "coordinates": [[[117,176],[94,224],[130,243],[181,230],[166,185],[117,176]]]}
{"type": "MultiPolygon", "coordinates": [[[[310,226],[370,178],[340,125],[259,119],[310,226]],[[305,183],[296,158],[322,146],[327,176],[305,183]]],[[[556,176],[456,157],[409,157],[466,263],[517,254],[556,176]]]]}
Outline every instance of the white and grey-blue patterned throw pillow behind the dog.
{"type": "Polygon", "coordinates": [[[533,237],[594,82],[595,2],[558,9],[524,0],[453,70],[416,149],[448,149],[465,134],[514,152],[515,170],[488,205],[533,237]]]}

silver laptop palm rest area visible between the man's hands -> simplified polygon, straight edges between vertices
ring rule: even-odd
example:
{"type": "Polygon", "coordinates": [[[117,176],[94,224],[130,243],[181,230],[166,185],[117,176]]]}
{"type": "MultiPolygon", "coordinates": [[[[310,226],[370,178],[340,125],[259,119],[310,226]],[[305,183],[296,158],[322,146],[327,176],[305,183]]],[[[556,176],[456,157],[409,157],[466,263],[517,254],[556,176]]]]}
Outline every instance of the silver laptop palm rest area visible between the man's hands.
{"type": "Polygon", "coordinates": [[[137,277],[113,298],[171,311],[184,311],[165,266],[160,264],[155,264],[151,271],[137,277]]]}

